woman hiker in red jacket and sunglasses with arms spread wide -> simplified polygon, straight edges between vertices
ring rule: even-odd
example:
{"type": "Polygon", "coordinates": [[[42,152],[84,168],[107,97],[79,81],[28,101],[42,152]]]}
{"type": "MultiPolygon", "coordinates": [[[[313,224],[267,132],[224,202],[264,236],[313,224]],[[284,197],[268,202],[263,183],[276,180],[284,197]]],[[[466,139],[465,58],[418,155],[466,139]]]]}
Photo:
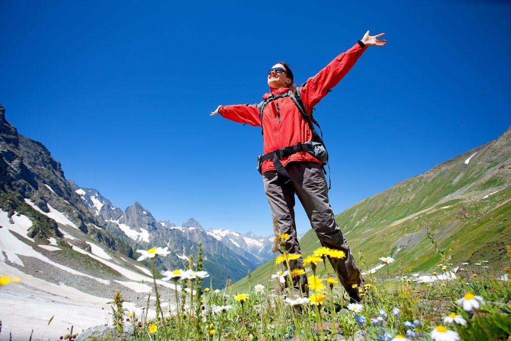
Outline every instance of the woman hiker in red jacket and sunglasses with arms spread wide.
{"type": "MultiPolygon", "coordinates": [[[[335,57],[300,87],[293,84],[293,73],[288,65],[276,63],[268,71],[270,93],[263,96],[261,103],[219,105],[211,113],[212,116],[219,113],[235,122],[262,127],[264,154],[258,158],[258,170],[263,175],[278,232],[290,235],[285,244],[286,251],[301,254],[294,218],[296,194],[321,245],[340,249],[346,254],[343,261],[332,265],[337,266],[339,280],[352,302],[360,301],[358,290],[354,288],[354,284],[360,285],[360,272],[329,203],[329,187],[323,174],[328,153],[314,128],[312,109],[350,71],[367,47],[385,46],[386,40],[378,39],[383,35],[370,36],[367,31],[351,49],[335,57]]],[[[291,267],[303,268],[302,260],[293,262],[291,267]]],[[[307,278],[302,275],[294,278],[293,283],[305,289],[307,278]]]]}

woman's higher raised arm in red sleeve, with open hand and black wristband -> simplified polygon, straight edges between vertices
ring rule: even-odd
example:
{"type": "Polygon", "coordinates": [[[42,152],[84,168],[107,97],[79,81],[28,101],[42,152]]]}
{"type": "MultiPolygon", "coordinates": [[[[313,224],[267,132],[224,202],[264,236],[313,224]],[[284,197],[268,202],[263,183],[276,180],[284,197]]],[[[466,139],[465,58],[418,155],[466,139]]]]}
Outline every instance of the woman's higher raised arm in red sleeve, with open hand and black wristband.
{"type": "Polygon", "coordinates": [[[301,98],[308,112],[314,107],[339,81],[351,70],[358,58],[369,46],[385,46],[385,39],[378,39],[385,33],[370,36],[367,31],[362,42],[356,43],[350,50],[341,53],[332,60],[316,76],[309,78],[306,85],[301,88],[301,98]]]}

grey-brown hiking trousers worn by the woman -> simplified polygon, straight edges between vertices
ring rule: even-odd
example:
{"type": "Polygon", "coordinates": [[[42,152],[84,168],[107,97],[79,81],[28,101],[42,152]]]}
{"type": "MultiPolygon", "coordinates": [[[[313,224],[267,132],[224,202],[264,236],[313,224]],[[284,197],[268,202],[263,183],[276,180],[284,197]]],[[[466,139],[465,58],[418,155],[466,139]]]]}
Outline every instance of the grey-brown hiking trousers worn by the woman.
{"type": "MultiPolygon", "coordinates": [[[[360,285],[360,271],[350,251],[346,239],[334,219],[334,213],[328,200],[328,186],[321,166],[315,162],[291,162],[286,165],[286,171],[293,180],[285,185],[278,179],[276,171],[267,171],[263,174],[264,189],[273,218],[276,220],[278,232],[287,233],[291,237],[286,241],[286,251],[292,254],[301,254],[296,234],[294,218],[294,195],[303,205],[311,226],[316,232],[321,245],[344,251],[346,259],[330,260],[332,266],[337,266],[339,281],[353,298],[358,298],[357,289],[353,284],[360,285]],[[334,265],[336,264],[336,265],[334,265]]],[[[278,252],[282,254],[281,246],[278,252]]],[[[303,268],[300,258],[290,264],[291,269],[303,268]]],[[[294,278],[293,286],[298,285],[305,289],[307,277],[305,275],[294,278]]]]}

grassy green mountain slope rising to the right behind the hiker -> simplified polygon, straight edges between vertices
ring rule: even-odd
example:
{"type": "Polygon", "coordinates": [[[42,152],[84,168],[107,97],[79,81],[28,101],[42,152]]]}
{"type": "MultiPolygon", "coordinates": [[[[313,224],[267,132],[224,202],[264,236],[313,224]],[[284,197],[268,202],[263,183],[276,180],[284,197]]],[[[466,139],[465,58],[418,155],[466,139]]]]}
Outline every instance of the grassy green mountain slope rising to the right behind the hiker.
{"type": "MultiPolygon", "coordinates": [[[[498,140],[356,203],[336,221],[357,259],[362,252],[367,268],[389,255],[397,260],[390,264],[394,273],[400,262],[405,272],[434,268],[441,261],[425,224],[451,263],[483,259],[498,265],[505,259],[504,246],[511,244],[511,128],[498,140]]],[[[314,231],[307,232],[300,246],[304,255],[319,246],[314,231]]],[[[262,265],[253,272],[252,283],[267,282],[274,271],[273,261],[262,265]]],[[[245,277],[235,289],[247,285],[245,277]]]]}

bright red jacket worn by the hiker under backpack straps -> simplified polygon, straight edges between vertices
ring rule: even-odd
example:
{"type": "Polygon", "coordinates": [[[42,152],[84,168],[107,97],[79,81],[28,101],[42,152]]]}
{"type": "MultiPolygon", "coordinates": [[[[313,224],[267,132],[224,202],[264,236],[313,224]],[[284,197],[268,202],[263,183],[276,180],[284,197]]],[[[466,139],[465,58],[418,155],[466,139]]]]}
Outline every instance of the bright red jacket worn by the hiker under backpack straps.
{"type": "MultiPolygon", "coordinates": [[[[361,48],[356,43],[350,50],[335,57],[316,76],[309,78],[305,86],[301,87],[301,99],[309,114],[312,108],[329,93],[330,89],[337,85],[342,77],[350,71],[365,49],[367,49],[367,46],[361,48]]],[[[270,87],[271,94],[283,94],[288,91],[288,87],[278,89],[270,87]]],[[[269,95],[265,94],[263,99],[267,99],[269,95]]],[[[261,126],[259,110],[255,105],[226,105],[220,109],[220,115],[231,121],[248,123],[251,126],[261,126]]],[[[298,108],[289,97],[278,98],[266,105],[263,111],[263,128],[264,154],[278,148],[294,146],[298,142],[304,143],[312,140],[309,124],[300,115],[298,108]]],[[[281,159],[284,167],[292,161],[321,163],[317,158],[305,151],[281,159]]],[[[263,173],[274,169],[275,167],[271,160],[263,162],[263,173]]]]}

